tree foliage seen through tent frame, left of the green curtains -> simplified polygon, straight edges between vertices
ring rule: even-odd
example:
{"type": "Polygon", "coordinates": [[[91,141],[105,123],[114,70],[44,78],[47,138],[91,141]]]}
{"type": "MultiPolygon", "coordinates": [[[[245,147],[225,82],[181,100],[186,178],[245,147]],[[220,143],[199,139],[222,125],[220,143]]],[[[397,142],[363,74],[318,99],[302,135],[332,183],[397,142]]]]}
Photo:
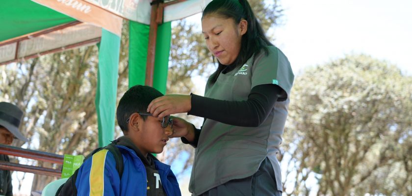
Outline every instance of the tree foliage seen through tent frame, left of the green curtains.
{"type": "MultiPolygon", "coordinates": [[[[96,47],[80,48],[2,67],[1,97],[25,108],[21,130],[30,139],[29,148],[71,154],[95,146],[95,91],[91,89],[97,82],[97,62],[91,56],[96,52],[96,47]]],[[[52,179],[37,177],[42,178],[34,181],[37,189],[52,179]]]]}

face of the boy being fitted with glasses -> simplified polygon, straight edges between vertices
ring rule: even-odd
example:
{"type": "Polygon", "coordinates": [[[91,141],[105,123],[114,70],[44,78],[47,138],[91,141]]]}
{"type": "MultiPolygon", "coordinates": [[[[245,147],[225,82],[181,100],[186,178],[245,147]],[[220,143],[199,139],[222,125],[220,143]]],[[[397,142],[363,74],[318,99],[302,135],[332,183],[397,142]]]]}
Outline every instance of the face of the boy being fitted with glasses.
{"type": "MultiPolygon", "coordinates": [[[[165,121],[169,117],[165,118],[165,121]]],[[[172,134],[172,128],[167,125],[162,127],[162,120],[158,120],[153,116],[147,116],[146,121],[142,118],[138,119],[139,131],[133,134],[132,140],[135,142],[139,150],[146,155],[147,153],[161,153],[166,142],[169,140],[169,135],[172,134]]],[[[130,130],[129,130],[130,131],[130,130]]],[[[131,135],[130,135],[131,136],[131,135]]]]}

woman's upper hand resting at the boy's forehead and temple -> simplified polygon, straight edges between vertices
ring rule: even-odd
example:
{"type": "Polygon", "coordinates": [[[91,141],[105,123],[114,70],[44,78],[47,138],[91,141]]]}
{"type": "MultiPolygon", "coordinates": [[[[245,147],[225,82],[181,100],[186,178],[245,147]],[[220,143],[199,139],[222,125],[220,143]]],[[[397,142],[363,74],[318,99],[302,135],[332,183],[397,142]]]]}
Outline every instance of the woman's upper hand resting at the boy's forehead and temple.
{"type": "Polygon", "coordinates": [[[154,117],[189,112],[192,108],[190,95],[165,95],[155,98],[149,104],[147,112],[154,117]]]}

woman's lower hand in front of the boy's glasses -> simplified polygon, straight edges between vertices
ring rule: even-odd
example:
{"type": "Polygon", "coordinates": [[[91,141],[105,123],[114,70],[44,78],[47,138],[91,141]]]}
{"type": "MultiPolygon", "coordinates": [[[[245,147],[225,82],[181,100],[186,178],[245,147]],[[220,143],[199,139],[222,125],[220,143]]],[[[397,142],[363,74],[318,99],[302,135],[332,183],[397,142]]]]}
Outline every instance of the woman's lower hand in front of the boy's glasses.
{"type": "Polygon", "coordinates": [[[175,116],[173,116],[172,119],[173,135],[171,135],[171,138],[185,137],[187,141],[192,142],[195,139],[195,129],[193,124],[175,116]]]}

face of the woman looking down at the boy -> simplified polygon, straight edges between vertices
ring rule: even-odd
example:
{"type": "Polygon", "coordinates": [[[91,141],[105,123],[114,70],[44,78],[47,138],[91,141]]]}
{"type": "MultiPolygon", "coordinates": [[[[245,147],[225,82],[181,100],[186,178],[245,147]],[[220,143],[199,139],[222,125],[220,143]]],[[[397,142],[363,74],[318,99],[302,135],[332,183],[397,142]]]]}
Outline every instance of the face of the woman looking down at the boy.
{"type": "Polygon", "coordinates": [[[233,19],[206,15],[202,20],[202,33],[210,52],[223,65],[230,65],[239,54],[242,35],[247,31],[247,21],[235,24],[233,19]]]}

